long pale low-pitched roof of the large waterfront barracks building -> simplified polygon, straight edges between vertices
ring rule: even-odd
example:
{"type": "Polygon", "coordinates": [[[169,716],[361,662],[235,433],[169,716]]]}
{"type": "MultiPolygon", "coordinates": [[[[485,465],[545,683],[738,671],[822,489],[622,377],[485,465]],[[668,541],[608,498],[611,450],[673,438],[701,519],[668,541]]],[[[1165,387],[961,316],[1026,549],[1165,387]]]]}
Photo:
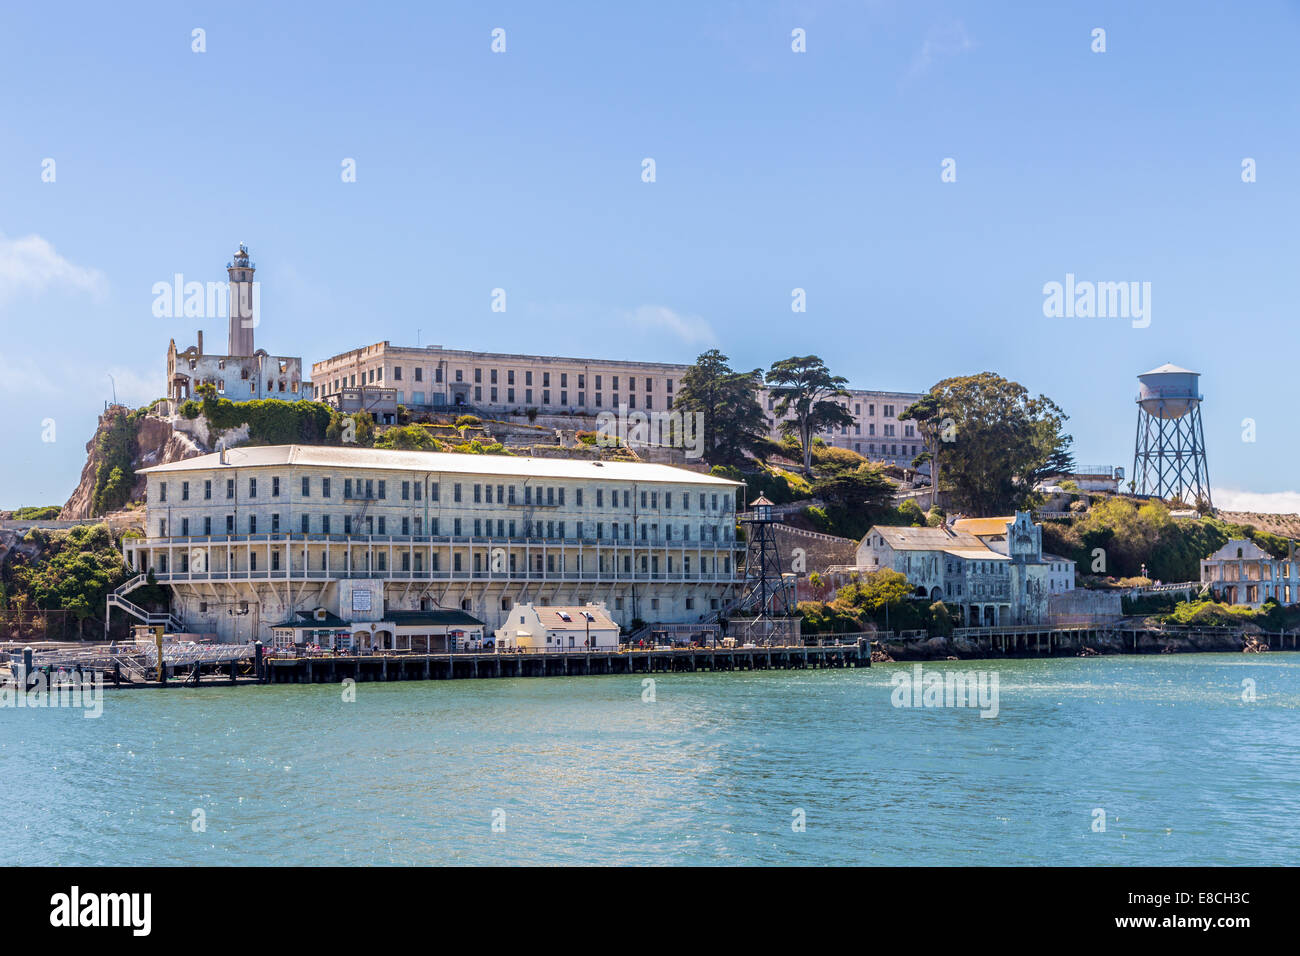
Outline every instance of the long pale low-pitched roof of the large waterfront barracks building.
{"type": "Polygon", "coordinates": [[[139,468],[138,475],[169,475],[221,468],[306,466],[315,468],[370,468],[373,471],[433,472],[439,475],[490,475],[516,479],[581,479],[654,481],[741,488],[744,483],[705,475],[689,468],[647,462],[592,462],[577,458],[520,458],[516,455],[468,455],[454,451],[399,451],[339,445],[254,445],[226,450],[226,460],[214,451],[168,464],[139,468]]]}

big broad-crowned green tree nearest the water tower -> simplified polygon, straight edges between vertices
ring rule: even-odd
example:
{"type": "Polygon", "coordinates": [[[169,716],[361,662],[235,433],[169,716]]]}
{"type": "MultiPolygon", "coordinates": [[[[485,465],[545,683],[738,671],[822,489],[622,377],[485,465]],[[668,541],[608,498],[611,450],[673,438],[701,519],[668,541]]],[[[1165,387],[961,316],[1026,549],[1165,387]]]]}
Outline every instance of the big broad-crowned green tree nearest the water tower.
{"type": "Polygon", "coordinates": [[[949,486],[975,515],[1001,515],[1024,505],[1045,471],[1069,466],[1074,441],[1067,415],[1049,398],[993,372],[945,378],[930,390],[952,419],[944,441],[949,486]]]}

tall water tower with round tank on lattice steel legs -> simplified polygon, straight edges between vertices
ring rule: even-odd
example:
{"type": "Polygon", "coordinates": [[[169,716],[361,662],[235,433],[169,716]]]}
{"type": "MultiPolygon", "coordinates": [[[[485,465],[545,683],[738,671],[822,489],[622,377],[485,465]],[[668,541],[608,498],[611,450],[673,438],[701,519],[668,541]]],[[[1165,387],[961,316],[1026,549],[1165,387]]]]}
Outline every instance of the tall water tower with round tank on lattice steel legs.
{"type": "Polygon", "coordinates": [[[1138,376],[1134,490],[1210,507],[1200,373],[1165,364],[1138,376]]]}

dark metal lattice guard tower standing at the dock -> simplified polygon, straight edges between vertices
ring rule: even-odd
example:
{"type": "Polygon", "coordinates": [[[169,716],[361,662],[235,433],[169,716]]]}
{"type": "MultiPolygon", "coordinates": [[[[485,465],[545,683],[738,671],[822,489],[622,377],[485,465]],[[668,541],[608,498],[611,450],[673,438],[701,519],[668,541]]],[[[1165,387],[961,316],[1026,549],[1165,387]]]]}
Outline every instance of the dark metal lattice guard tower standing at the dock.
{"type": "Polygon", "coordinates": [[[753,643],[798,643],[798,610],[794,575],[785,574],[772,527],[772,502],[759,496],[741,515],[748,528],[745,584],[732,618],[741,627],[737,637],[753,643]],[[792,640],[793,639],[793,640],[792,640]]]}

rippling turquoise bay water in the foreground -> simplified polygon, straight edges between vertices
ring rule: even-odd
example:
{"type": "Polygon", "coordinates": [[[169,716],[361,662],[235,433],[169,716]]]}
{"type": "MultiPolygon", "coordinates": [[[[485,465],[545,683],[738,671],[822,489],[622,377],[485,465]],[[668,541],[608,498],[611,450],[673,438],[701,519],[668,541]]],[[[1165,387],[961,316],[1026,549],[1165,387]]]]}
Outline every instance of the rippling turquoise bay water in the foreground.
{"type": "Polygon", "coordinates": [[[653,702],[637,675],[5,709],[0,858],[1300,862],[1300,654],[945,667],[996,671],[998,717],[892,706],[909,665],[658,675],[653,702]]]}

